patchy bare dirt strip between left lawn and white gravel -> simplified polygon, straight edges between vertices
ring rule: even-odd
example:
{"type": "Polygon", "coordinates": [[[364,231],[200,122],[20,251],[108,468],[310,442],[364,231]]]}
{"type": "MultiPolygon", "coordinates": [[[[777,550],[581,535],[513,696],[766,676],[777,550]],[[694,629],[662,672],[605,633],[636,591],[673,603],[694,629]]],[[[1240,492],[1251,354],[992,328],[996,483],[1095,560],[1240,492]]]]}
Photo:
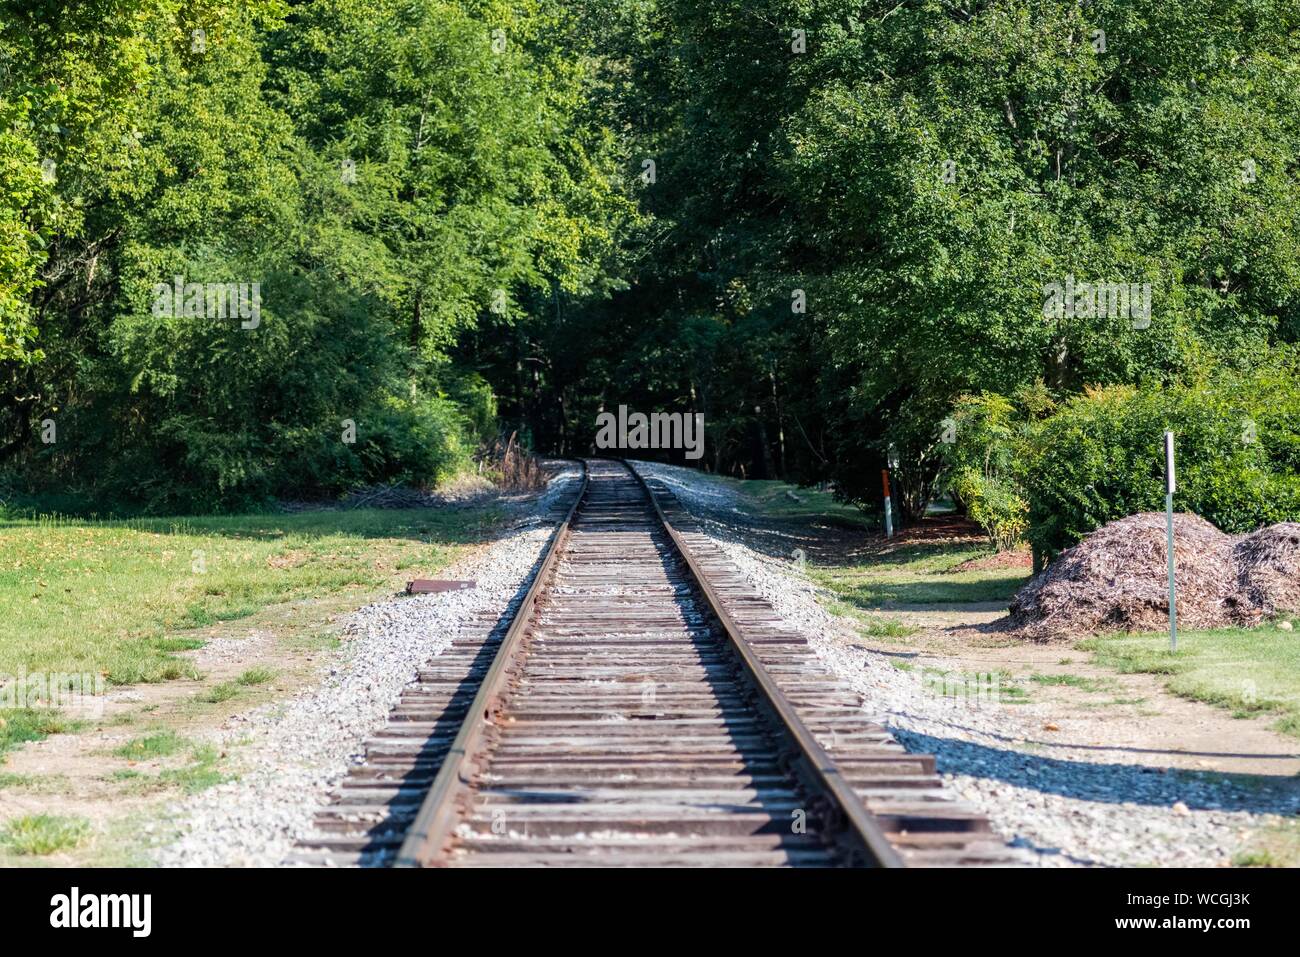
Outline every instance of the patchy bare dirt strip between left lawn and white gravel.
{"type": "MultiPolygon", "coordinates": [[[[465,546],[460,560],[482,547],[465,546]]],[[[339,619],[374,597],[347,592],[290,602],[192,632],[203,648],[178,657],[194,662],[202,681],[110,690],[103,714],[86,719],[78,732],[10,752],[0,770],[16,783],[0,788],[0,820],[57,814],[90,823],[94,840],[40,858],[46,863],[147,863],[150,849],[169,833],[162,822],[169,802],[239,772],[240,748],[220,740],[222,733],[238,729],[250,709],[291,700],[318,683],[322,668],[338,658],[339,619]],[[256,668],[270,677],[256,685],[237,683],[256,668]],[[238,692],[224,702],[202,697],[221,684],[238,692]],[[133,742],[151,740],[157,744],[130,754],[133,742]]]]}

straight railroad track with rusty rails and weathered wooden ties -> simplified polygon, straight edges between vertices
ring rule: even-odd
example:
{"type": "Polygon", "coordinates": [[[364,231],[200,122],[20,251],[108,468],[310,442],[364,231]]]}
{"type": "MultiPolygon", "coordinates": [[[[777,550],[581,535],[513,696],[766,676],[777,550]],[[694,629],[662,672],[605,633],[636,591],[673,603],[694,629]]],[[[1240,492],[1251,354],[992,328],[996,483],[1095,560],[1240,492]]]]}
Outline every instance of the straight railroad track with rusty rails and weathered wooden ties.
{"type": "Polygon", "coordinates": [[[432,659],[290,863],[1011,865],[663,489],[586,463],[526,594],[432,659]]]}

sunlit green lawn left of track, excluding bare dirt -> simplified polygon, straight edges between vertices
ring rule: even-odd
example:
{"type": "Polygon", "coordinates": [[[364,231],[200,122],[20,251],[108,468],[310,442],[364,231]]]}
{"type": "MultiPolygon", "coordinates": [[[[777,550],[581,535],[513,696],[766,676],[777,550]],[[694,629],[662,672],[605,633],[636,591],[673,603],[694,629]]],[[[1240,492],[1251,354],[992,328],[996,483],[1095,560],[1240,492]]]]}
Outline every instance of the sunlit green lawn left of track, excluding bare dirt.
{"type": "Polygon", "coordinates": [[[278,602],[436,571],[493,508],[356,510],[121,521],[0,518],[0,674],[195,677],[185,629],[278,602]],[[182,632],[182,633],[177,633],[182,632]]]}

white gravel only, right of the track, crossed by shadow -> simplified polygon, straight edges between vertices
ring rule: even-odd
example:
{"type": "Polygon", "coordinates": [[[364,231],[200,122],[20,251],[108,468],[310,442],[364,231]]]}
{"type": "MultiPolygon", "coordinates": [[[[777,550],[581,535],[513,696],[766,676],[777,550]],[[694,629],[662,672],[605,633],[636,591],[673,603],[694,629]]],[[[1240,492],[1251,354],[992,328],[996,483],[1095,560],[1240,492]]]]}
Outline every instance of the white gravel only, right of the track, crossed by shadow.
{"type": "Polygon", "coordinates": [[[871,716],[914,752],[936,755],[957,793],[1004,835],[1036,852],[1040,863],[1216,866],[1227,863],[1249,831],[1300,813],[1295,791],[1242,788],[1139,763],[1105,752],[1035,750],[1049,715],[1034,703],[998,705],[971,694],[945,697],[887,655],[832,640],[845,623],[823,609],[793,560],[767,557],[736,529],[738,499],[690,469],[637,463],[664,481],[750,584],[809,637],[818,655],[868,702],[871,716]],[[725,516],[719,523],[711,516],[725,516]]]}

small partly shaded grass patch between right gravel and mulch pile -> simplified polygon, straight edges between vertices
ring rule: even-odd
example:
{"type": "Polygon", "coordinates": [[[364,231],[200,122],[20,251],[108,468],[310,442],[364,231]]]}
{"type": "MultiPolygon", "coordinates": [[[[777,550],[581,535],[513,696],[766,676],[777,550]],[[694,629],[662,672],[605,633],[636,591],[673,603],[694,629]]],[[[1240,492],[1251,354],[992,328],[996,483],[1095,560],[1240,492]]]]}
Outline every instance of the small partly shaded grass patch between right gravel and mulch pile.
{"type": "Polygon", "coordinates": [[[1010,601],[1028,579],[1022,571],[953,571],[989,550],[963,544],[926,542],[868,555],[855,566],[816,567],[810,577],[853,607],[963,605],[1010,601]]]}

